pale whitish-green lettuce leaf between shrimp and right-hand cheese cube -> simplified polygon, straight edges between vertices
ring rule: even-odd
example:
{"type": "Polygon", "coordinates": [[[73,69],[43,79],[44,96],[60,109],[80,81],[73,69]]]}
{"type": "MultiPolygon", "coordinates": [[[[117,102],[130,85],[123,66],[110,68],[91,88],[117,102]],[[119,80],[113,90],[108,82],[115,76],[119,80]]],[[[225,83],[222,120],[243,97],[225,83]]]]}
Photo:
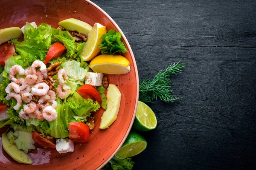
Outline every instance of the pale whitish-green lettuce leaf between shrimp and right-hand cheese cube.
{"type": "Polygon", "coordinates": [[[61,66],[65,69],[67,75],[69,76],[69,80],[76,81],[76,83],[84,81],[84,78],[88,71],[80,67],[80,65],[81,63],[75,60],[67,61],[61,64],[61,66]]]}

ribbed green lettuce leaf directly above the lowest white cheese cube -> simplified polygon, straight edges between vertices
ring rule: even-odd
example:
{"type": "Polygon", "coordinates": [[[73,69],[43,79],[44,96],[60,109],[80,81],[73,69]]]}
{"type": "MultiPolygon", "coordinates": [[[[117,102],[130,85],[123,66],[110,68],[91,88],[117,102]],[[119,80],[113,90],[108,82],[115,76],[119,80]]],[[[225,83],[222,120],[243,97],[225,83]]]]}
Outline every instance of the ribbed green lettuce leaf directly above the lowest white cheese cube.
{"type": "Polygon", "coordinates": [[[47,133],[55,138],[67,138],[69,136],[68,120],[71,119],[74,114],[68,103],[58,105],[56,108],[57,119],[49,122],[49,129],[47,133]]]}

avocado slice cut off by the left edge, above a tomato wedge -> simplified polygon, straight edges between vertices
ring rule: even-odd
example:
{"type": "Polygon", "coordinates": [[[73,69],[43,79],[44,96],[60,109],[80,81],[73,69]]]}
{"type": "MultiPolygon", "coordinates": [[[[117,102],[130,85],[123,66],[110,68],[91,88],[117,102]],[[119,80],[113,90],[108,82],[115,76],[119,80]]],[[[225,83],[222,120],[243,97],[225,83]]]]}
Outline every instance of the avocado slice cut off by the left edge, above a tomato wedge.
{"type": "Polygon", "coordinates": [[[0,44],[9,41],[13,38],[18,38],[22,35],[22,31],[19,27],[11,27],[0,29],[0,44]]]}

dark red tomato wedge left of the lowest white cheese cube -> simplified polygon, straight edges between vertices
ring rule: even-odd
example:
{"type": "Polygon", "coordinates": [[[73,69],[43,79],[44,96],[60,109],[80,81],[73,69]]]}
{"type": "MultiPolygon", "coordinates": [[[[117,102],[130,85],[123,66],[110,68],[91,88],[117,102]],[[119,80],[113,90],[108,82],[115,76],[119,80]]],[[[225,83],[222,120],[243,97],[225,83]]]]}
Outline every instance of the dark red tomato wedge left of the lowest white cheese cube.
{"type": "Polygon", "coordinates": [[[36,131],[33,132],[32,139],[36,144],[38,144],[39,146],[41,146],[43,148],[46,148],[46,149],[55,149],[56,148],[54,143],[52,143],[48,139],[44,138],[36,131]]]}

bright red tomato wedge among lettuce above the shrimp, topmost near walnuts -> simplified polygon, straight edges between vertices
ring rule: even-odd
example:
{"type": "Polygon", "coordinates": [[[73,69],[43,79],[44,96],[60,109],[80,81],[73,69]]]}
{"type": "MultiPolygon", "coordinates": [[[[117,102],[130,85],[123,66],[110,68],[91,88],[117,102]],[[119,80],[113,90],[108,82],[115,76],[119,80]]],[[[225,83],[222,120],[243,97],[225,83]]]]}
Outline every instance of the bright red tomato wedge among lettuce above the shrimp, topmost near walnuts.
{"type": "Polygon", "coordinates": [[[61,57],[66,51],[66,47],[62,45],[60,42],[55,42],[50,47],[46,59],[44,61],[44,64],[47,64],[51,59],[57,59],[58,57],[61,57]]]}

